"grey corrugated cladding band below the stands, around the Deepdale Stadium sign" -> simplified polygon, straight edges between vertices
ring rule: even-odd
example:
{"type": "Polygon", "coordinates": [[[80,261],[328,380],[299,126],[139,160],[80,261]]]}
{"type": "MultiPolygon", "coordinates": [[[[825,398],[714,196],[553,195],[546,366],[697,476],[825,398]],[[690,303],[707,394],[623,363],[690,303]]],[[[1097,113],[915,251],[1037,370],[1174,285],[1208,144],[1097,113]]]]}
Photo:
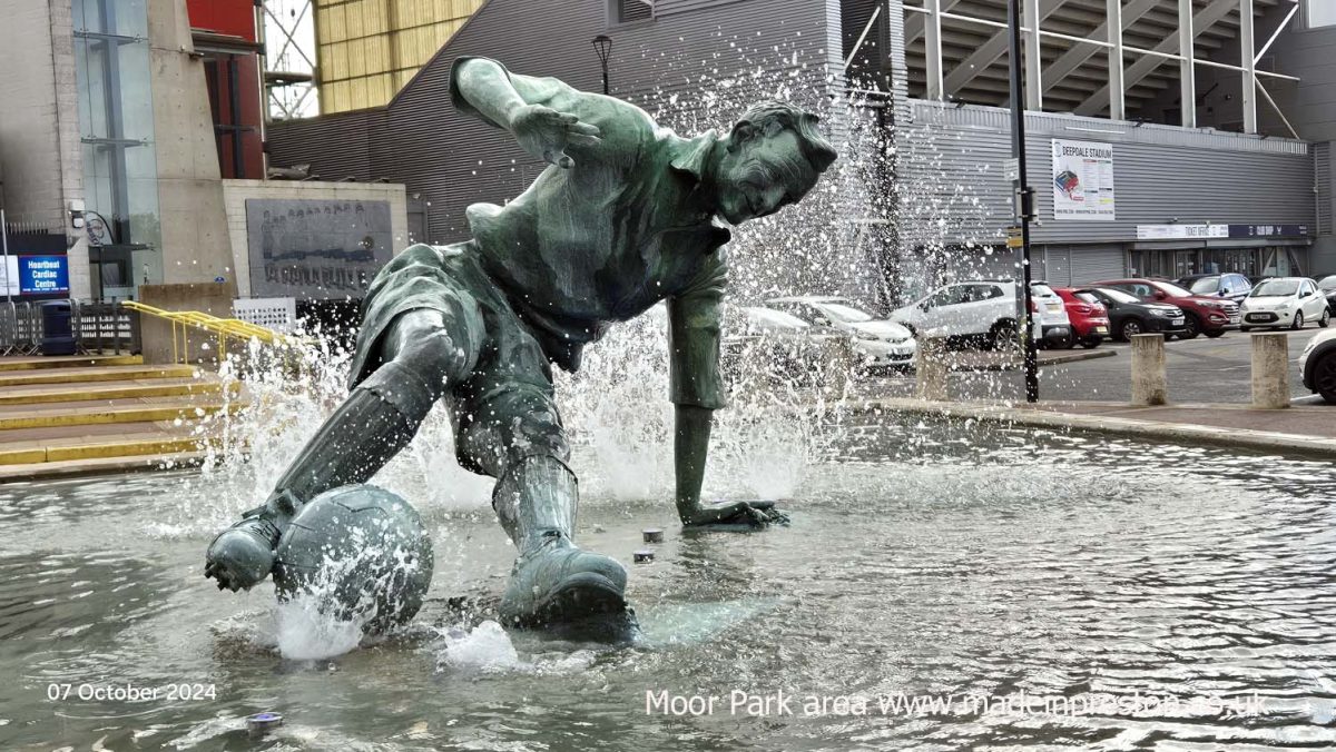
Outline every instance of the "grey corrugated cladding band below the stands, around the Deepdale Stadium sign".
{"type": "MultiPolygon", "coordinates": [[[[900,130],[902,211],[911,243],[989,242],[1010,224],[1007,112],[915,102],[900,130]],[[950,216],[951,222],[937,222],[950,216]]],[[[1035,243],[1128,242],[1137,224],[1268,223],[1313,226],[1308,144],[1237,134],[1031,114],[1026,118],[1029,182],[1041,222],[1035,243]],[[1117,219],[1054,220],[1051,139],[1113,144],[1117,219]]]]}

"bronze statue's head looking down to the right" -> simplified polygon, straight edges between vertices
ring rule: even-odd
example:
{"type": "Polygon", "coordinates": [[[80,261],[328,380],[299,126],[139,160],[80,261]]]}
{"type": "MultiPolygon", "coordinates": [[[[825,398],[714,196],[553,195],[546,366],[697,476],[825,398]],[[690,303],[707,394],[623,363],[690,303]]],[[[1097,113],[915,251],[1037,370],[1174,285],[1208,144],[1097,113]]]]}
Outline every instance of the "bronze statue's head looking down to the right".
{"type": "Polygon", "coordinates": [[[819,176],[803,156],[798,134],[733,131],[719,163],[719,215],[731,224],[775,214],[812,190],[819,176]]]}

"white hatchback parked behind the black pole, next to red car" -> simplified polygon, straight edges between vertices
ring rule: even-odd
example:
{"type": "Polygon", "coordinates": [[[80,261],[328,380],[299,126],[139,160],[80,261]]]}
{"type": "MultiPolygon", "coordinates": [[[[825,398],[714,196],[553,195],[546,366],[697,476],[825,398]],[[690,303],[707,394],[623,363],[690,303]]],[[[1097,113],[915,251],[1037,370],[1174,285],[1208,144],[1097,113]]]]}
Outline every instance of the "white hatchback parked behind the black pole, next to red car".
{"type": "MultiPolygon", "coordinates": [[[[1038,309],[1037,298],[1034,303],[1038,309]]],[[[1058,306],[1063,309],[1061,298],[1058,306]]],[[[1042,310],[1033,313],[1042,314],[1042,310]]],[[[1066,317],[1065,309],[1062,315],[1066,317]]],[[[933,333],[953,339],[973,339],[986,347],[1002,347],[1015,341],[1015,282],[979,279],[946,285],[903,309],[891,311],[891,321],[903,323],[919,338],[925,333],[933,333]]],[[[1035,341],[1042,341],[1045,333],[1041,315],[1031,315],[1030,322],[1031,335],[1035,341]]],[[[1070,323],[1067,326],[1066,331],[1070,335],[1070,323]]]]}

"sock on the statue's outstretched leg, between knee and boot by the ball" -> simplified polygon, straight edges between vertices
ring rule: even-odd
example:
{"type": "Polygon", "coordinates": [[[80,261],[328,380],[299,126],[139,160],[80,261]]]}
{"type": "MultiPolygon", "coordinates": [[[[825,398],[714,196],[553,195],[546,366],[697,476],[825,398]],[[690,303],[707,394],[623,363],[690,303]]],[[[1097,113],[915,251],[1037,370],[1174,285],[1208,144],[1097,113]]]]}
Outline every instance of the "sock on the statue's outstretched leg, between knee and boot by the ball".
{"type": "Polygon", "coordinates": [[[279,478],[266,502],[271,514],[291,516],[330,489],[366,482],[413,441],[444,385],[389,362],[349,393],[279,478]]]}

